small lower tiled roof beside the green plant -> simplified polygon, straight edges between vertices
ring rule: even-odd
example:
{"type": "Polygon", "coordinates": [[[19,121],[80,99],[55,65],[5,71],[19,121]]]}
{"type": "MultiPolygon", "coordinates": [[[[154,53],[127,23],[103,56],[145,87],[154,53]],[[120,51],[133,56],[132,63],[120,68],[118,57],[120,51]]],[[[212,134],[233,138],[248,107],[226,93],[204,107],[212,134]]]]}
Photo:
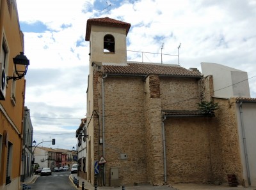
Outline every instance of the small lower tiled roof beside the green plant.
{"type": "Polygon", "coordinates": [[[205,117],[200,110],[163,110],[166,117],[205,117]]]}

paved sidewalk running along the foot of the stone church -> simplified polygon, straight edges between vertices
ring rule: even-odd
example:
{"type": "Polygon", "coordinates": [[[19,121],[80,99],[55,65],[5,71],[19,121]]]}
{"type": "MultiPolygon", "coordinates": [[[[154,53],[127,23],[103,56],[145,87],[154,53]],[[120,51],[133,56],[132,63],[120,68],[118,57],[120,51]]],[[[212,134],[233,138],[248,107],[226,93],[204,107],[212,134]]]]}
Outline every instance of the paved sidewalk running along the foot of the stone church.
{"type": "MultiPolygon", "coordinates": [[[[95,190],[95,187],[92,186],[87,180],[82,179],[81,177],[77,177],[77,174],[71,174],[69,176],[70,180],[73,182],[74,177],[79,180],[79,189],[82,188],[82,182],[84,182],[84,189],[86,190],[95,190]]],[[[122,186],[120,187],[97,187],[97,190],[122,190],[122,186]]],[[[151,184],[138,184],[138,186],[125,186],[125,190],[207,190],[207,189],[215,189],[215,190],[256,190],[256,187],[230,187],[228,184],[221,184],[220,186],[214,184],[173,184],[173,186],[152,186],[151,184]]]]}

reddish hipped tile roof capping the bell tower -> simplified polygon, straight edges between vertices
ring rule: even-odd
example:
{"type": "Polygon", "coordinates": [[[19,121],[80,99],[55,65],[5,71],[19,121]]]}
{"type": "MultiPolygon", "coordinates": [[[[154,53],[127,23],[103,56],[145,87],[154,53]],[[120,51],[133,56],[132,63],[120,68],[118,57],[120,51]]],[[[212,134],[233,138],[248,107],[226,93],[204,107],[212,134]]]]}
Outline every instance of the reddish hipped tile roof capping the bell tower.
{"type": "Polygon", "coordinates": [[[111,27],[122,27],[126,29],[126,35],[131,27],[131,24],[127,22],[122,22],[120,20],[115,20],[113,18],[104,17],[104,18],[90,18],[87,20],[86,24],[86,34],[85,40],[90,41],[91,27],[92,25],[96,26],[111,26],[111,27]]]}

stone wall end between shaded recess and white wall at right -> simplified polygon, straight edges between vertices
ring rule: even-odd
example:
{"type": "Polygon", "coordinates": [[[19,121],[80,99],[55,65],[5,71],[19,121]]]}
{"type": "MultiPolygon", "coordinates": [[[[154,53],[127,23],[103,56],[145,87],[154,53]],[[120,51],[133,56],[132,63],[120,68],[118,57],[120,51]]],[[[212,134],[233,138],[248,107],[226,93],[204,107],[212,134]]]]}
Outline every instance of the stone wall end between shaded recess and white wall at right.
{"type": "Polygon", "coordinates": [[[218,171],[221,173],[221,180],[227,182],[228,174],[236,174],[239,184],[243,184],[236,102],[220,98],[214,98],[214,102],[218,102],[220,106],[216,111],[216,133],[220,143],[221,165],[218,171]]]}

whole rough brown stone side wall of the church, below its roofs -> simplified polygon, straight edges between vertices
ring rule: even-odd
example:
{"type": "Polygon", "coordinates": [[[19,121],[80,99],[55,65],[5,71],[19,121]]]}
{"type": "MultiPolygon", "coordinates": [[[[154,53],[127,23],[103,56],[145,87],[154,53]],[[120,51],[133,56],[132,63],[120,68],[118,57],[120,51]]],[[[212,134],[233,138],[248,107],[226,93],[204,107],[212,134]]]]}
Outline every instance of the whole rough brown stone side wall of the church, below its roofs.
{"type": "MultiPolygon", "coordinates": [[[[111,167],[118,168],[120,184],[164,183],[161,110],[196,110],[200,94],[212,92],[211,79],[156,75],[145,81],[141,77],[104,79],[106,186],[110,185],[111,167]],[[127,159],[121,159],[121,154],[127,159]]],[[[100,127],[95,118],[95,159],[102,156],[101,87],[102,75],[97,73],[93,108],[100,115],[100,127]]],[[[169,117],[164,121],[167,183],[227,182],[227,174],[241,173],[234,107],[227,99],[214,98],[214,102],[220,102],[216,117],[169,117]]]]}

